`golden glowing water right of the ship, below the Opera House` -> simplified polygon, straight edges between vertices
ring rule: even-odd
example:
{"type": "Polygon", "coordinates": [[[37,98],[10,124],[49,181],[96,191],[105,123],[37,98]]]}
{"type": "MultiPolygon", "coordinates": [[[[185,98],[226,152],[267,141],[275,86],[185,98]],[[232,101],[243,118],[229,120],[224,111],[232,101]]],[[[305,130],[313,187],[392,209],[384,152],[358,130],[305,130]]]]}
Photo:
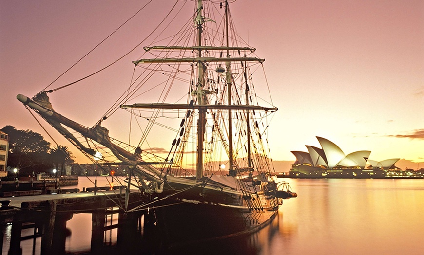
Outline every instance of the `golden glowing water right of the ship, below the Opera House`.
{"type": "Polygon", "coordinates": [[[284,253],[423,254],[424,180],[287,181],[298,197],[280,209],[284,253]]]}

